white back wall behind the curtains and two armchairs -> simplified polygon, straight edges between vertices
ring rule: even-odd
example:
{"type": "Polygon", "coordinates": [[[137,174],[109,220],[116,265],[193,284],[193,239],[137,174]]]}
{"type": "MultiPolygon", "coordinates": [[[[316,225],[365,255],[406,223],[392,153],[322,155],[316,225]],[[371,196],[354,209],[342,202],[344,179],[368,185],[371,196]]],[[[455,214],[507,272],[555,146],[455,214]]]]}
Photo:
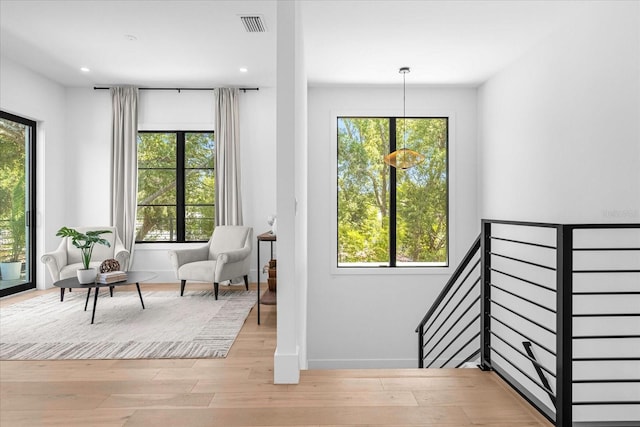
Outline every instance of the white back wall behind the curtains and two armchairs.
{"type": "MultiPolygon", "coordinates": [[[[275,212],[275,90],[240,94],[240,139],[244,222],[254,234],[268,229],[275,212]]],[[[71,209],[69,224],[110,223],[111,98],[109,91],[67,89],[68,138],[73,164],[65,180],[71,209]],[[90,177],[90,179],[86,179],[90,177]],[[86,207],[86,208],[85,208],[86,207]]],[[[140,91],[140,130],[207,130],[214,127],[213,93],[205,91],[140,91]]],[[[190,246],[184,244],[180,246],[190,246]]],[[[167,250],[175,244],[138,244],[132,270],[158,274],[155,282],[175,282],[167,250]]],[[[254,248],[255,251],[255,248],[254,248]]],[[[254,258],[252,258],[254,259],[254,258]]],[[[256,266],[251,267],[255,281],[256,266]]]]}

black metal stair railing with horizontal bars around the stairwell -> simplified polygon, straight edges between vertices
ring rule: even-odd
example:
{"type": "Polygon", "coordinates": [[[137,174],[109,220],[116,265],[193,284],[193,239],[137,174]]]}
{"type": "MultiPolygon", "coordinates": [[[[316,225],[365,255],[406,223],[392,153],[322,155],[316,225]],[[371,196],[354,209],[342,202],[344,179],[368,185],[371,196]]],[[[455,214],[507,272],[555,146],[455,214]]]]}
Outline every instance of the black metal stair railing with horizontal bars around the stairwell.
{"type": "Polygon", "coordinates": [[[640,425],[640,224],[483,220],[463,262],[416,330],[419,366],[478,314],[480,367],[554,425],[640,425]],[[478,244],[479,308],[458,310],[471,287],[452,309],[478,244]]]}

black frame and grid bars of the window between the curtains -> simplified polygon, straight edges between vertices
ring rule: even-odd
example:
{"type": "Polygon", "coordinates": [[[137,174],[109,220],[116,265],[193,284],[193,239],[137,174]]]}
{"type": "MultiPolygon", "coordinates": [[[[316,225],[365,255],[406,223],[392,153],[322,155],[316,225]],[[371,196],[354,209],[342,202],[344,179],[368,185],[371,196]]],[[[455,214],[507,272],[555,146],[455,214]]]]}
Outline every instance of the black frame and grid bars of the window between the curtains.
{"type": "MultiPolygon", "coordinates": [[[[175,205],[139,205],[136,202],[136,208],[140,206],[175,206],[176,207],[176,239],[175,240],[136,240],[136,243],[202,243],[208,240],[186,240],[186,207],[187,206],[211,206],[215,208],[215,194],[214,194],[214,203],[211,204],[199,204],[199,205],[187,205],[185,203],[185,182],[186,182],[186,171],[189,169],[206,169],[212,170],[215,173],[215,157],[214,157],[214,167],[213,168],[189,168],[186,167],[186,159],[185,159],[185,141],[186,134],[190,133],[210,133],[214,135],[214,147],[215,147],[215,133],[213,130],[139,130],[138,134],[142,133],[165,133],[165,134],[175,134],[176,136],[176,167],[173,168],[140,168],[138,170],[151,170],[151,169],[166,169],[166,170],[175,170],[176,172],[176,204],[175,205]]],[[[214,148],[215,150],[215,148],[214,148]]],[[[214,151],[214,153],[217,150],[214,151]]],[[[139,179],[139,178],[138,178],[139,179]]],[[[215,218],[214,218],[214,228],[215,228],[215,218]]]]}

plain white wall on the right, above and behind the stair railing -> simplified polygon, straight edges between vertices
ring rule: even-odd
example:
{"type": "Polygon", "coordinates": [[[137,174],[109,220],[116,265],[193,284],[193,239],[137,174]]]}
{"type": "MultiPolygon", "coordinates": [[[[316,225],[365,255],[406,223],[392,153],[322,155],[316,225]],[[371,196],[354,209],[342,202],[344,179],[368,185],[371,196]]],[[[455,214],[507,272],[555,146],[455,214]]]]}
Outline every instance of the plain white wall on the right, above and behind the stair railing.
{"type": "MultiPolygon", "coordinates": [[[[640,223],[640,3],[585,2],[576,10],[580,13],[564,28],[479,89],[483,217],[640,223]]],[[[620,237],[624,237],[621,246],[640,244],[638,233],[625,232],[620,237]]],[[[598,256],[598,261],[607,259],[598,256]]],[[[615,256],[616,262],[630,257],[615,256]]],[[[580,258],[576,255],[576,261],[580,258]]],[[[576,268],[598,268],[598,264],[592,260],[588,267],[576,268]]],[[[593,286],[637,288],[637,278],[621,276],[599,276],[593,286]]],[[[579,278],[574,276],[574,289],[582,286],[579,278]]],[[[574,298],[574,311],[593,309],[589,303],[574,298]]],[[[607,297],[595,305],[597,310],[624,311],[629,298],[607,297]]],[[[620,333],[614,321],[596,323],[611,328],[605,335],[620,333]]],[[[574,320],[574,327],[580,326],[574,320]]],[[[624,326],[637,333],[640,322],[625,319],[624,326]]],[[[602,333],[600,329],[595,333],[602,333]]],[[[574,356],[576,351],[580,356],[630,355],[629,346],[634,345],[633,340],[576,341],[574,356]]],[[[510,370],[508,365],[505,368],[510,370]]],[[[638,375],[637,364],[616,364],[609,369],[613,373],[585,364],[574,364],[574,368],[574,378],[638,375]]],[[[638,400],[637,385],[626,386],[574,386],[574,397],[638,400]]],[[[546,399],[544,393],[537,394],[546,399]]],[[[640,411],[633,406],[574,406],[573,411],[580,421],[640,419],[640,411]]]]}

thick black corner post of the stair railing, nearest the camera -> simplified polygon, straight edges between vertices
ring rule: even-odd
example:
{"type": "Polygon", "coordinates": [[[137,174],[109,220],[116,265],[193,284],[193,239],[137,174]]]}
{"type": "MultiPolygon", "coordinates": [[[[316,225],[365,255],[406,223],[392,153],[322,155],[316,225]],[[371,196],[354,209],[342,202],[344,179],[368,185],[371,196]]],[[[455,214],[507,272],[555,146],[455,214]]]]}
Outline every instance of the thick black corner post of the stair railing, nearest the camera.
{"type": "Polygon", "coordinates": [[[573,227],[557,228],[556,426],[573,419],[573,227]]]}

